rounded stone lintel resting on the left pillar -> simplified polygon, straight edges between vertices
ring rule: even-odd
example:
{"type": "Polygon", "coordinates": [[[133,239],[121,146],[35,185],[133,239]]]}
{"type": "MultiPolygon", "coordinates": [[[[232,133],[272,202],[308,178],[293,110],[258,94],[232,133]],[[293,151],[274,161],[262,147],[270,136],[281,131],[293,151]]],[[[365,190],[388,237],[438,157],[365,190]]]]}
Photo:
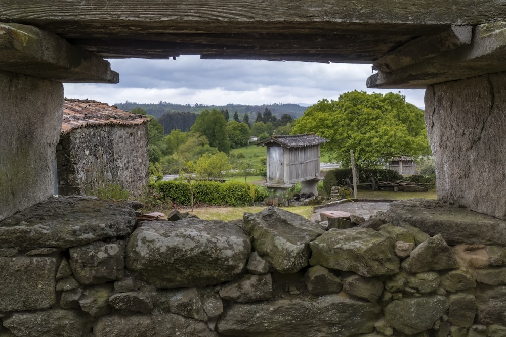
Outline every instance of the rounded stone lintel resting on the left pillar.
{"type": "Polygon", "coordinates": [[[59,82],[119,82],[119,74],[99,55],[16,23],[0,23],[0,70],[59,82]]]}

